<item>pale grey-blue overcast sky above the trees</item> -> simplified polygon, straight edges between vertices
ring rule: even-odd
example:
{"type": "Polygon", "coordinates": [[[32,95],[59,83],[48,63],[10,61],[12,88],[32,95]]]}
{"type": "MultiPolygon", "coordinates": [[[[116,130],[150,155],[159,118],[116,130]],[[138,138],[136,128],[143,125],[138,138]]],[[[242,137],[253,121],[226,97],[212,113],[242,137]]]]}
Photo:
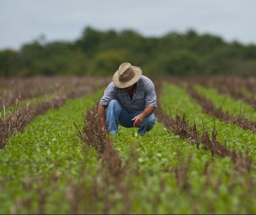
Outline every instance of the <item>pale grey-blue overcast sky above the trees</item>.
{"type": "Polygon", "coordinates": [[[193,29],[256,45],[256,0],[0,0],[0,49],[42,34],[74,41],[87,26],[145,37],[193,29]]]}

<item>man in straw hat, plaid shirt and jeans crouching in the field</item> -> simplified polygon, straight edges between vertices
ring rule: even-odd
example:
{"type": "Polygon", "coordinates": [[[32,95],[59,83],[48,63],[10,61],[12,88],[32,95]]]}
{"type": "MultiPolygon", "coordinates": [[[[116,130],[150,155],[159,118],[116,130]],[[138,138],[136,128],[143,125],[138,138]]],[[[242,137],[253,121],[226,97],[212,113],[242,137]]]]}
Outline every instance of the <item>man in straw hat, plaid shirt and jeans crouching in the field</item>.
{"type": "Polygon", "coordinates": [[[150,131],[155,123],[157,107],[155,86],[140,67],[129,62],[120,65],[99,102],[101,130],[116,134],[118,125],[138,127],[138,133],[150,131]],[[107,111],[106,111],[107,110],[107,111]]]}

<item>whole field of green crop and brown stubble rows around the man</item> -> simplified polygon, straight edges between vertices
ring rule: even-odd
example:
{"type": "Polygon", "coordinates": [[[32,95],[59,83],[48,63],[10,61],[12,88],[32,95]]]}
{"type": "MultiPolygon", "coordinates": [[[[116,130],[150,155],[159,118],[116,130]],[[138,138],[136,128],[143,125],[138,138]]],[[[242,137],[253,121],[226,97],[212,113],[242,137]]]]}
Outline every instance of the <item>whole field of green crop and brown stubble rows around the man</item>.
{"type": "Polygon", "coordinates": [[[153,80],[153,129],[109,135],[111,78],[0,78],[0,214],[256,213],[256,78],[153,80]]]}

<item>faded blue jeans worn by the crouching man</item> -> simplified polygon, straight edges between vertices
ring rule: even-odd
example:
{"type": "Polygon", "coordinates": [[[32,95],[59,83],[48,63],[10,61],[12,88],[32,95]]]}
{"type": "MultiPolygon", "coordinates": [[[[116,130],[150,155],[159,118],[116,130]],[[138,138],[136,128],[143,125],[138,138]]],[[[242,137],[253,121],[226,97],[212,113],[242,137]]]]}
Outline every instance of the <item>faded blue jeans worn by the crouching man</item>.
{"type": "MultiPolygon", "coordinates": [[[[131,119],[141,114],[143,110],[129,113],[125,110],[125,108],[120,104],[117,99],[112,99],[107,107],[106,114],[106,124],[107,129],[110,133],[116,134],[118,131],[118,125],[120,124],[126,128],[132,128],[134,121],[131,119]]],[[[150,116],[144,118],[142,124],[138,129],[138,133],[146,133],[146,131],[150,131],[155,123],[155,115],[151,114],[150,116]]]]}

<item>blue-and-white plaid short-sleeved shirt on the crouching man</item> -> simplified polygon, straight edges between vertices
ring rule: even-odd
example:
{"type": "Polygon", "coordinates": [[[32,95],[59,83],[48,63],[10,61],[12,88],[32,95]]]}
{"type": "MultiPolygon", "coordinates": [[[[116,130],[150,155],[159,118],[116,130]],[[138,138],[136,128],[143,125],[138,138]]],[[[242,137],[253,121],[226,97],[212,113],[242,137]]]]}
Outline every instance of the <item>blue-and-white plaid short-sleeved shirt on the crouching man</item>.
{"type": "Polygon", "coordinates": [[[157,97],[153,82],[146,76],[142,75],[136,83],[133,97],[129,97],[128,93],[121,88],[114,86],[111,82],[104,91],[104,95],[99,102],[101,105],[108,105],[112,99],[117,99],[121,105],[129,113],[144,110],[145,107],[157,107],[157,97]]]}

